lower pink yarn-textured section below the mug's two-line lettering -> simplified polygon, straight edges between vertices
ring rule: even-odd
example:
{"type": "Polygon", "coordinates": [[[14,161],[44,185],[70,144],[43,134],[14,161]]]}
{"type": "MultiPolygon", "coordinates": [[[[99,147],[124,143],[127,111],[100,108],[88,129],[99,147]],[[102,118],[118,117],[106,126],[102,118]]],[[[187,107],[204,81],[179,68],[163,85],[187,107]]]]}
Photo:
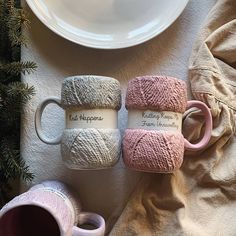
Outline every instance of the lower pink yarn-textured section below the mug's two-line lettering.
{"type": "Polygon", "coordinates": [[[125,164],[133,169],[172,172],[183,162],[183,135],[167,131],[126,130],[123,140],[125,164]]]}

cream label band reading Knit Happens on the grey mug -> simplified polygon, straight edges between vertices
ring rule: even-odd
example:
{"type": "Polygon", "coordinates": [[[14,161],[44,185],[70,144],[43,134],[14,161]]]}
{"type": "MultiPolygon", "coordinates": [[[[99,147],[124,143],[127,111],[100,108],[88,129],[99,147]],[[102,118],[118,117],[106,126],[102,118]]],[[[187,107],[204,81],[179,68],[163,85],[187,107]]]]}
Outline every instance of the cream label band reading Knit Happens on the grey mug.
{"type": "Polygon", "coordinates": [[[67,110],[67,129],[117,129],[117,111],[112,109],[67,110]]]}

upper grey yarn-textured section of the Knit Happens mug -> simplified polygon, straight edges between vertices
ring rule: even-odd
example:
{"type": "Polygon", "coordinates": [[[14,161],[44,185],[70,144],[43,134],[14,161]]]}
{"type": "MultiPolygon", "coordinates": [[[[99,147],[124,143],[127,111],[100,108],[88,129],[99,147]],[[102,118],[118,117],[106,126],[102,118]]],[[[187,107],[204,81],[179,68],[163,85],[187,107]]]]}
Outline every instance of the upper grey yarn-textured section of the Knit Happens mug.
{"type": "Polygon", "coordinates": [[[61,102],[64,108],[121,107],[121,91],[118,80],[111,77],[84,75],[72,76],[63,81],[61,102]]]}

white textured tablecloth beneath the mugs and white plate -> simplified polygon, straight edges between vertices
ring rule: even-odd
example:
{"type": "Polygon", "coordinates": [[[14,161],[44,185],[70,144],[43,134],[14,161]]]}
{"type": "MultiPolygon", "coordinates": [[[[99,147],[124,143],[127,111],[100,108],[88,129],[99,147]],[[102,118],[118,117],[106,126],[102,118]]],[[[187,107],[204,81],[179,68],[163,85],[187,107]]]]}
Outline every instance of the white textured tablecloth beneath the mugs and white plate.
{"type": "MultiPolygon", "coordinates": [[[[127,82],[136,76],[162,74],[186,80],[193,41],[214,4],[215,0],[190,0],[181,16],[161,35],[139,46],[120,50],[95,50],[71,43],[47,29],[26,5],[31,25],[26,31],[28,47],[22,48],[22,60],[35,61],[38,69],[22,77],[23,81],[34,85],[36,95],[25,107],[21,123],[21,155],[35,178],[30,184],[22,182],[21,191],[47,179],[70,184],[79,192],[83,210],[105,217],[109,232],[140,176],[146,174],[127,170],[122,159],[108,170],[74,171],[66,168],[61,160],[60,146],[44,144],[36,135],[36,107],[48,96],[60,96],[63,79],[72,75],[95,74],[118,79],[123,102],[127,82]]],[[[62,132],[64,112],[55,105],[45,109],[42,119],[49,137],[62,132]]],[[[118,124],[121,133],[126,122],[127,111],[123,105],[118,124]]]]}

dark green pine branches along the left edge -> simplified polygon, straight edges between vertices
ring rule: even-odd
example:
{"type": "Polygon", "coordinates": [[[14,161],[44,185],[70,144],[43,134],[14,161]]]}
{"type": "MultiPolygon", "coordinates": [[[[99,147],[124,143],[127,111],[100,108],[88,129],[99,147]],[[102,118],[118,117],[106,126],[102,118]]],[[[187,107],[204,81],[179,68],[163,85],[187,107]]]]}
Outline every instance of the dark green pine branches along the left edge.
{"type": "Polygon", "coordinates": [[[0,0],[0,207],[9,200],[11,181],[34,177],[20,156],[20,116],[35,94],[20,79],[36,64],[20,61],[20,46],[26,43],[21,27],[29,21],[19,6],[19,0],[0,0]]]}

